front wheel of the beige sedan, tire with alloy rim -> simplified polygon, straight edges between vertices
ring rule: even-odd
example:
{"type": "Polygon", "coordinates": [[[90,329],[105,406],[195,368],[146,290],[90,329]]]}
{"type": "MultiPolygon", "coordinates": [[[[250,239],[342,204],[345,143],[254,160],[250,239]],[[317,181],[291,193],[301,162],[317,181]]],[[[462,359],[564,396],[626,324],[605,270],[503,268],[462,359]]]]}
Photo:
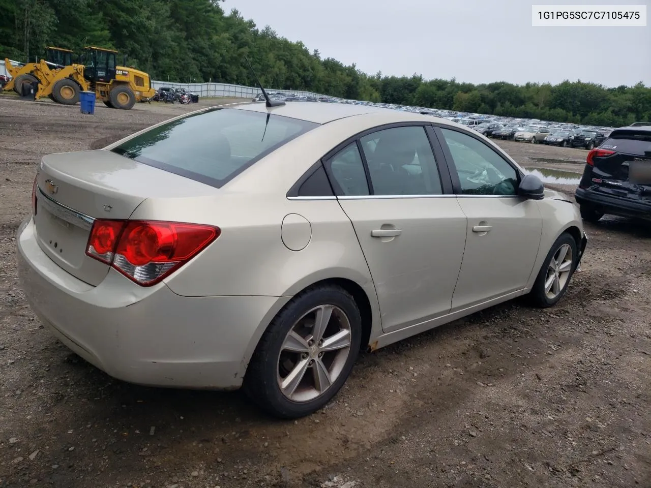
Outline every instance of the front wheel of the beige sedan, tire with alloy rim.
{"type": "Polygon", "coordinates": [[[536,277],[536,282],[534,282],[533,288],[529,292],[529,301],[532,305],[547,308],[555,305],[563,297],[568,288],[568,284],[570,284],[570,279],[574,274],[577,257],[577,245],[574,237],[570,236],[567,232],[563,232],[556,239],[556,242],[553,243],[551,249],[549,249],[542,267],[538,272],[538,277],[536,277]],[[558,259],[560,257],[559,252],[562,253],[562,249],[572,252],[572,255],[568,256],[564,254],[565,258],[563,260],[558,259]],[[559,264],[560,268],[566,269],[566,271],[559,271],[557,273],[559,264]],[[550,280],[551,287],[548,289],[550,280]]]}

